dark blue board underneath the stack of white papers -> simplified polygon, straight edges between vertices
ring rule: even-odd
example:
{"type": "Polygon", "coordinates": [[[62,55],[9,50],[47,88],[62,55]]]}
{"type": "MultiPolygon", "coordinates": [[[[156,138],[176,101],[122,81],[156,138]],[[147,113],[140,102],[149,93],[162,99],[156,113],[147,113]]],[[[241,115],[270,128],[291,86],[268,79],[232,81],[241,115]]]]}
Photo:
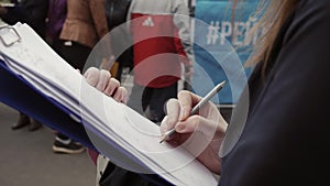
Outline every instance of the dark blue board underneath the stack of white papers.
{"type": "MultiPolygon", "coordinates": [[[[76,122],[67,113],[68,110],[57,103],[55,100],[43,95],[40,90],[31,86],[25,79],[14,74],[10,68],[7,67],[3,61],[0,59],[0,101],[16,109],[51,129],[58,131],[75,141],[80,142],[85,146],[97,151],[91,143],[89,135],[96,133],[96,131],[89,132],[81,123],[76,122]]],[[[95,140],[95,139],[94,139],[95,140]]],[[[102,140],[102,138],[98,138],[102,140]]],[[[105,141],[106,142],[106,141],[105,141]]],[[[106,144],[106,143],[103,143],[106,144]]],[[[131,156],[121,150],[120,146],[110,146],[109,151],[117,151],[122,153],[124,156],[131,156]]],[[[131,156],[131,163],[141,164],[141,162],[131,156]]],[[[170,185],[167,180],[163,179],[158,175],[144,175],[140,174],[145,179],[157,185],[170,185]]]]}

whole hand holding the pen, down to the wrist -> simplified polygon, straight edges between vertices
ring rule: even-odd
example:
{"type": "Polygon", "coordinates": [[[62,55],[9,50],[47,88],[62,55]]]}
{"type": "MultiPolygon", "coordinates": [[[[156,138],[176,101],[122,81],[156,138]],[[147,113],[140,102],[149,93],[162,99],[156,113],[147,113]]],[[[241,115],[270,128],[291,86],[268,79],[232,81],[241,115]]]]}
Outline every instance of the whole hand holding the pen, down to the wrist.
{"type": "Polygon", "coordinates": [[[220,174],[219,151],[227,122],[218,108],[206,103],[199,114],[190,116],[191,108],[200,101],[200,97],[183,90],[178,99],[170,99],[167,105],[167,116],[161,124],[161,133],[175,128],[176,133],[167,140],[184,146],[213,173],[220,174]]]}

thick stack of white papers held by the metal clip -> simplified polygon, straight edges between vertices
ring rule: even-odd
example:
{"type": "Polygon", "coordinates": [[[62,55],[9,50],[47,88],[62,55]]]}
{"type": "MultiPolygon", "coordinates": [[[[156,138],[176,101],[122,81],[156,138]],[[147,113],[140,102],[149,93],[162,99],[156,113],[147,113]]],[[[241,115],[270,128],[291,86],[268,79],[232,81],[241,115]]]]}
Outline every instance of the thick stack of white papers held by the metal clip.
{"type": "MultiPolygon", "coordinates": [[[[52,119],[47,116],[54,107],[61,110],[55,119],[66,118],[70,123],[82,125],[95,149],[110,160],[118,160],[120,166],[129,166],[142,174],[157,174],[173,185],[217,185],[213,174],[185,149],[160,144],[158,125],[89,86],[81,74],[58,56],[28,24],[0,28],[0,55],[6,67],[2,69],[19,77],[19,81],[34,91],[26,99],[37,95],[46,100],[45,106],[37,108],[45,113],[40,116],[44,124],[47,125],[47,119],[52,119]]],[[[6,84],[2,81],[0,85],[6,84]]],[[[23,100],[11,102],[20,105],[23,100]]],[[[66,125],[57,125],[59,131],[62,128],[66,125]]],[[[72,131],[73,135],[77,133],[72,131]]]]}

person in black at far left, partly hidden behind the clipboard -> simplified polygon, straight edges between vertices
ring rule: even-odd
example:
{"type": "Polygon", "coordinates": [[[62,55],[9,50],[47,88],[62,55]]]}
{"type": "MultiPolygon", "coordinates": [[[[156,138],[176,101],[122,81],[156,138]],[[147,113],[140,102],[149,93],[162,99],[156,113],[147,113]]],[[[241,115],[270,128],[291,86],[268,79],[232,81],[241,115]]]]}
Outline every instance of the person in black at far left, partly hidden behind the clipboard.
{"type": "MultiPolygon", "coordinates": [[[[48,9],[47,2],[46,0],[21,0],[14,1],[14,7],[7,8],[0,6],[0,18],[10,25],[16,22],[26,23],[41,37],[44,37],[48,9]]],[[[19,121],[11,128],[16,130],[25,125],[29,125],[30,131],[35,131],[42,127],[42,123],[20,111],[19,121]]]]}

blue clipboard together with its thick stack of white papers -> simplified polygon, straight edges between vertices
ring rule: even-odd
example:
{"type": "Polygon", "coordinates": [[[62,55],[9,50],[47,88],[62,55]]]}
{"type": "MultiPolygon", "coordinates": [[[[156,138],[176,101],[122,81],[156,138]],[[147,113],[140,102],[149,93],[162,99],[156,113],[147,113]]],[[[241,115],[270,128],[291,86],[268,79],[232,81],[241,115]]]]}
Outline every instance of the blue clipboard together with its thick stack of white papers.
{"type": "MultiPolygon", "coordinates": [[[[148,171],[150,174],[145,174],[144,172],[138,174],[157,185],[217,185],[218,182],[213,175],[198,161],[194,160],[184,149],[179,147],[173,151],[173,147],[168,144],[160,145],[160,136],[136,131],[136,128],[132,127],[132,122],[139,123],[141,129],[144,128],[148,132],[153,131],[160,134],[156,124],[88,85],[86,79],[67,63],[61,61],[61,58],[55,55],[55,52],[52,51],[29,25],[19,24],[15,26],[0,28],[0,48],[2,50],[0,50],[0,56],[3,57],[3,59],[0,61],[0,101],[25,112],[50,128],[98,152],[100,152],[99,146],[95,145],[95,140],[100,141],[106,144],[107,152],[110,152],[110,154],[116,152],[113,156],[108,156],[110,160],[113,160],[112,157],[116,156],[125,158],[125,162],[121,162],[123,163],[121,166],[133,165],[142,167],[143,171],[148,171]],[[20,30],[16,30],[16,28],[20,30]],[[1,34],[3,32],[6,32],[6,34],[1,34]],[[8,32],[10,32],[10,34],[8,32]],[[35,51],[34,53],[29,53],[29,47],[25,47],[31,46],[29,39],[30,42],[36,41],[33,46],[37,53],[35,51]],[[40,51],[37,47],[40,47],[40,51]],[[20,50],[24,53],[18,53],[20,50]],[[26,52],[29,55],[25,54],[26,52]],[[24,58],[25,55],[30,57],[30,54],[37,56],[24,58]],[[45,54],[47,56],[44,56],[45,54]],[[35,61],[42,61],[43,63],[36,63],[35,61]],[[15,68],[18,65],[22,68],[15,68]],[[47,67],[52,70],[46,68],[46,65],[50,65],[51,67],[47,67]],[[35,74],[24,72],[24,69],[33,70],[35,74]],[[73,74],[68,77],[69,79],[66,79],[56,74],[56,72],[73,74]],[[29,75],[35,76],[35,79],[29,75]],[[61,83],[61,79],[65,80],[65,83],[61,83]],[[79,96],[76,92],[76,89],[79,88],[79,85],[75,84],[77,80],[81,80],[81,84],[87,84],[84,90],[86,91],[87,99],[80,99],[79,102],[76,101],[77,96],[79,96]],[[45,85],[46,88],[43,89],[45,85]],[[57,97],[58,94],[59,97],[57,97]],[[67,99],[69,103],[65,102],[67,100],[62,99],[61,96],[69,97],[69,99],[67,99]],[[111,111],[114,111],[114,113],[109,110],[105,110],[105,112],[111,114],[113,118],[111,121],[117,121],[118,123],[109,124],[107,117],[105,118],[105,116],[98,112],[99,108],[95,102],[100,100],[103,100],[105,108],[112,108],[111,111]],[[72,107],[70,103],[80,105],[78,113],[77,108],[72,107]],[[81,116],[90,114],[87,116],[86,122],[84,123],[81,122],[79,111],[81,116]],[[75,117],[73,117],[73,114],[75,114],[75,117]],[[94,135],[92,141],[91,135],[94,135]],[[150,144],[145,145],[145,142],[150,144]],[[146,150],[141,149],[143,146],[146,147],[146,150]],[[155,150],[163,154],[157,154],[153,151],[147,152],[148,150],[155,150]],[[176,158],[173,160],[172,155],[179,157],[178,160],[180,161],[176,161],[176,158]],[[183,166],[183,163],[185,166],[183,166]],[[176,168],[176,164],[180,167],[176,168]],[[173,169],[169,165],[174,165],[176,169],[173,169]]],[[[106,156],[108,155],[107,152],[101,151],[106,156]]]]}

